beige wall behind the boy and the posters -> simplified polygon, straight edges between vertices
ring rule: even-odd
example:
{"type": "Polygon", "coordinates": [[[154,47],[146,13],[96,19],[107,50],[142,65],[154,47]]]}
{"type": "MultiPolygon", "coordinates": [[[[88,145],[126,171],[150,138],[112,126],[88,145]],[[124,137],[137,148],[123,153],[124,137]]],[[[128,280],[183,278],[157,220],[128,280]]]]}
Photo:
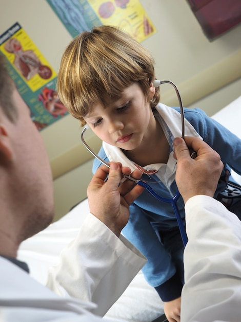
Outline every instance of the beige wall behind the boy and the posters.
{"type": "MultiPolygon", "coordinates": [[[[141,0],[140,3],[157,29],[154,35],[142,43],[155,58],[157,78],[171,80],[182,88],[187,80],[192,81],[193,77],[241,49],[241,25],[209,42],[185,0],[141,0]]],[[[15,22],[21,24],[57,71],[62,52],[71,36],[48,3],[44,0],[1,0],[0,34],[15,22]]],[[[237,65],[237,68],[241,68],[240,66],[241,64],[237,65]]],[[[198,106],[211,116],[237,98],[240,88],[239,79],[190,107],[198,106]]],[[[162,85],[161,90],[162,100],[166,102],[165,93],[170,91],[170,87],[162,85]]],[[[182,95],[182,91],[180,94],[182,95]]],[[[187,103],[186,98],[183,103],[187,106],[188,98],[187,103]]],[[[41,131],[52,165],[66,151],[81,149],[80,132],[78,121],[69,115],[41,131]]],[[[71,163],[71,159],[65,162],[71,163]]],[[[55,179],[56,218],[85,198],[91,177],[91,163],[90,160],[84,165],[84,169],[75,168],[68,175],[55,179]]]]}

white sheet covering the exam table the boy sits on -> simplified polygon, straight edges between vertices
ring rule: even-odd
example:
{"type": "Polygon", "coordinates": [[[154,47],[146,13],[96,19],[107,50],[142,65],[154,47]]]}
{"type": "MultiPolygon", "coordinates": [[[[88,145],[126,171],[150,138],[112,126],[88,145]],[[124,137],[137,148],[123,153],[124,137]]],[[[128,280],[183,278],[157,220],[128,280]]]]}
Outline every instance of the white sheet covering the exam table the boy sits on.
{"type": "MultiPolygon", "coordinates": [[[[213,118],[241,137],[241,96],[216,113],[213,118]]],[[[241,184],[240,176],[232,174],[241,184]]],[[[31,275],[39,282],[45,283],[48,267],[57,262],[61,249],[76,236],[78,227],[88,212],[88,202],[84,200],[61,220],[22,243],[18,258],[29,264],[31,275]]],[[[106,317],[116,322],[148,322],[163,313],[163,302],[139,272],[106,317]]]]}

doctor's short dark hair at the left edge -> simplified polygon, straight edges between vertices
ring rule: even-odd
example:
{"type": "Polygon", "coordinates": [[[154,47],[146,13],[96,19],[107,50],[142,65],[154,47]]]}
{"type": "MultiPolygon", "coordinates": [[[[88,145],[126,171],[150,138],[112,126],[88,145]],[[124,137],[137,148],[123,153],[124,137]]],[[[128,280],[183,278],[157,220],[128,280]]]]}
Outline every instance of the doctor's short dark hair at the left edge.
{"type": "Polygon", "coordinates": [[[6,64],[5,57],[0,54],[0,109],[14,122],[18,116],[12,96],[15,84],[9,76],[6,64]]]}

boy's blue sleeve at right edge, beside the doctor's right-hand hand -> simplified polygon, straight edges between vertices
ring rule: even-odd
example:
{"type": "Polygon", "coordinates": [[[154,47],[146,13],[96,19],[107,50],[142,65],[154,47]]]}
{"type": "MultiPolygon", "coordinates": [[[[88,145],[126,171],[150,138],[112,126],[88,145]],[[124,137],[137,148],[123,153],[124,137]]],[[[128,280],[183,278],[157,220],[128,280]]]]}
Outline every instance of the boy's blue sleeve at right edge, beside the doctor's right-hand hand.
{"type": "Polygon", "coordinates": [[[220,155],[223,163],[241,174],[241,139],[202,110],[185,109],[185,118],[204,141],[220,155]]]}

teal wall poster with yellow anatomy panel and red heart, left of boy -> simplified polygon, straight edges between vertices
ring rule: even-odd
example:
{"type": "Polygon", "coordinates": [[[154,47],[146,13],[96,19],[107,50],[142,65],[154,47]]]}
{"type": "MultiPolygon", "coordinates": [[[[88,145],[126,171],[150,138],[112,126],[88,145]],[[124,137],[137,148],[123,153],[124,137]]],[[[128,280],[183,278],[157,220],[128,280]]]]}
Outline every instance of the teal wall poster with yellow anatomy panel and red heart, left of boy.
{"type": "Polygon", "coordinates": [[[57,74],[19,23],[0,35],[0,54],[38,130],[68,114],[56,95],[57,74]]]}

